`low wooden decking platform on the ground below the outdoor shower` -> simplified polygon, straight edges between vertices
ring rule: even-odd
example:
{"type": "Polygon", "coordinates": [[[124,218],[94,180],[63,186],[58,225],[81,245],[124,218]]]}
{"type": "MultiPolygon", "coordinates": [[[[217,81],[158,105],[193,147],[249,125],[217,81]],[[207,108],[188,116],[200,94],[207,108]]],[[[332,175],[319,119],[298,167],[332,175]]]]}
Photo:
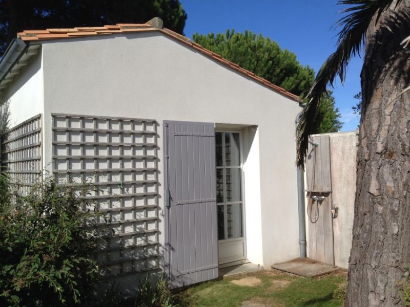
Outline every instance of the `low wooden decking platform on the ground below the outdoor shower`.
{"type": "Polygon", "coordinates": [[[272,266],[272,269],[300,275],[304,277],[315,277],[324,274],[329,274],[340,270],[339,267],[333,265],[323,264],[313,260],[295,259],[291,261],[282,262],[272,266]]]}

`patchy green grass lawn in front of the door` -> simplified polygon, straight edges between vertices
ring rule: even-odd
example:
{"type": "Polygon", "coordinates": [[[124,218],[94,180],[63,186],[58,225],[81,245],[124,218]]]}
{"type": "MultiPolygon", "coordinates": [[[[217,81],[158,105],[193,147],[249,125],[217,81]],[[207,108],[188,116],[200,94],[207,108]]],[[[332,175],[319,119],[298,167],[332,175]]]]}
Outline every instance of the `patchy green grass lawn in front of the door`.
{"type": "Polygon", "coordinates": [[[303,278],[276,270],[259,271],[229,279],[209,281],[189,288],[180,294],[180,305],[341,306],[342,299],[334,299],[333,292],[342,287],[345,279],[344,272],[317,278],[303,278]],[[254,285],[238,285],[234,282],[254,283],[254,285]]]}

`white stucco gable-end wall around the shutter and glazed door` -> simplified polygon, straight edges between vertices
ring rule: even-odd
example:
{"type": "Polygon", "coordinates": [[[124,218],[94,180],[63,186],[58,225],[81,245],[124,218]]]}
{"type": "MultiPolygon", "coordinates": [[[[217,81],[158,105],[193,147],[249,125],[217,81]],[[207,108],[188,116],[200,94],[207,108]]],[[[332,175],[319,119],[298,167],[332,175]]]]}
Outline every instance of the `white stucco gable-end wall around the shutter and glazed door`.
{"type": "Polygon", "coordinates": [[[257,126],[244,165],[248,258],[268,268],[298,256],[295,101],[161,33],[49,41],[43,54],[46,165],[51,113],[155,119],[160,194],[163,120],[257,126]]]}

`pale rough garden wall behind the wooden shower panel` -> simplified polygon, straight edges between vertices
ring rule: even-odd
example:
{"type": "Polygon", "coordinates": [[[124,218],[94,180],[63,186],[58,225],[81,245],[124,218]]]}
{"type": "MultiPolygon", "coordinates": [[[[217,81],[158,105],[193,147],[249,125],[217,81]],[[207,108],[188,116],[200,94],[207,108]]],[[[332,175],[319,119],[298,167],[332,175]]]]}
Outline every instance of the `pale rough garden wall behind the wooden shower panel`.
{"type": "MultiPolygon", "coordinates": [[[[356,131],[322,135],[329,136],[332,203],[338,207],[337,217],[333,219],[335,266],[347,269],[352,248],[352,228],[356,196],[357,135],[356,131]]],[[[307,185],[305,184],[305,186],[307,185]]],[[[305,207],[307,206],[307,200],[306,198],[305,207]]],[[[309,257],[307,216],[306,237],[308,238],[309,257]]]]}

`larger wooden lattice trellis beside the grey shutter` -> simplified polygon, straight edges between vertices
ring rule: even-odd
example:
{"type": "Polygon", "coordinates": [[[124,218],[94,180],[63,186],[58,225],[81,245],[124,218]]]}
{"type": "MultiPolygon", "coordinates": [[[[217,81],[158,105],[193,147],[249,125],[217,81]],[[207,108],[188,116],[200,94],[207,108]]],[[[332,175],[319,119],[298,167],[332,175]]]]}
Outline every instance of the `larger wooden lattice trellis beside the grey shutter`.
{"type": "Polygon", "coordinates": [[[53,114],[53,173],[87,181],[89,199],[110,221],[96,252],[107,277],[157,269],[158,186],[155,120],[53,114]]]}

